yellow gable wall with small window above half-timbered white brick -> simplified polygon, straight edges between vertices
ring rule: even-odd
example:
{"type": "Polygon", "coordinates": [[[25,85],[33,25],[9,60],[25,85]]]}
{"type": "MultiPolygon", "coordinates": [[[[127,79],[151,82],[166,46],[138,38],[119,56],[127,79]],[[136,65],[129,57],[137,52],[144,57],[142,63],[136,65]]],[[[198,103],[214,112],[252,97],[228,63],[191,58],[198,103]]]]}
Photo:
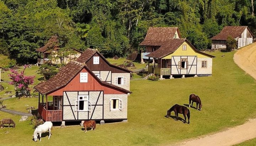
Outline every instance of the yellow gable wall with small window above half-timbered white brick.
{"type": "Polygon", "coordinates": [[[197,56],[197,58],[210,58],[206,55],[195,52],[187,42],[183,42],[183,44],[181,44],[174,53],[169,54],[162,59],[171,59],[172,56],[197,56]],[[187,50],[182,50],[183,44],[187,45],[187,50]]]}

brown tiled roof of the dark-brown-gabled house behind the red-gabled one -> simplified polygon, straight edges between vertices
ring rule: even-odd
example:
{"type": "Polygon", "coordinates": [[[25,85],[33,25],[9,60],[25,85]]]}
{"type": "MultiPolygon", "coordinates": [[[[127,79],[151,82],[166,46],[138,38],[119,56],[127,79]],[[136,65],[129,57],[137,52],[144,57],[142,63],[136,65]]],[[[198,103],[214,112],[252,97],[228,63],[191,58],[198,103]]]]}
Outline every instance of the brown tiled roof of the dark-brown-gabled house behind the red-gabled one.
{"type": "Polygon", "coordinates": [[[132,71],[130,71],[128,69],[124,69],[122,67],[118,67],[116,65],[111,64],[110,62],[107,61],[107,59],[100,52],[98,52],[95,49],[90,49],[90,48],[86,49],[84,51],[84,53],[82,53],[81,56],[79,56],[79,58],[76,59],[76,61],[78,61],[80,63],[86,63],[90,58],[92,58],[92,56],[94,56],[95,53],[98,53],[98,55],[100,55],[102,57],[102,59],[105,60],[108,65],[110,65],[110,66],[112,66],[112,67],[114,67],[116,69],[120,69],[120,70],[126,71],[126,72],[132,72],[132,71]]]}

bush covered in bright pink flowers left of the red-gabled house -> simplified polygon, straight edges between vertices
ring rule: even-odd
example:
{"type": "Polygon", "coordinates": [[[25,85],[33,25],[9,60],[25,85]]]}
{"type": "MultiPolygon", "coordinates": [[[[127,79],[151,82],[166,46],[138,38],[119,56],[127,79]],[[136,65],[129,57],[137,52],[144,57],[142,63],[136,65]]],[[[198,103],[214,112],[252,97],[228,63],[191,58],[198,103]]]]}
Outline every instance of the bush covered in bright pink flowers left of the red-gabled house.
{"type": "Polygon", "coordinates": [[[18,92],[19,95],[30,95],[29,86],[33,84],[35,76],[25,76],[24,71],[29,65],[24,65],[23,70],[18,72],[16,70],[11,69],[10,82],[11,85],[15,86],[15,91],[18,92]]]}

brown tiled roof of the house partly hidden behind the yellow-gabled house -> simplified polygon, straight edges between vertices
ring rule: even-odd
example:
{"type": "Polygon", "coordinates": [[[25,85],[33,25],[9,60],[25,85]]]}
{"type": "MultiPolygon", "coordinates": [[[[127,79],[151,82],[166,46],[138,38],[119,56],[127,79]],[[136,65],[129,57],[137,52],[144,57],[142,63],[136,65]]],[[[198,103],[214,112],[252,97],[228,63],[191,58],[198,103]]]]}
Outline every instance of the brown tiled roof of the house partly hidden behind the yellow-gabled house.
{"type": "Polygon", "coordinates": [[[161,45],[162,41],[174,38],[174,34],[178,33],[178,37],[181,38],[178,27],[150,27],[146,34],[145,39],[140,45],[161,45]]]}

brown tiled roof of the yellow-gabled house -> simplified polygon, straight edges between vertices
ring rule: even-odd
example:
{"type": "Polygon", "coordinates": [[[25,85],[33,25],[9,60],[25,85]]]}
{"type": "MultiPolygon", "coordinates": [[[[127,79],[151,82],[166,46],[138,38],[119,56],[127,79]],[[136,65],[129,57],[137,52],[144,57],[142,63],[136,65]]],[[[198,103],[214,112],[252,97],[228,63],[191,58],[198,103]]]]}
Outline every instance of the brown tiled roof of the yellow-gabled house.
{"type": "Polygon", "coordinates": [[[171,53],[174,53],[178,49],[178,47],[180,47],[180,45],[185,41],[192,47],[192,49],[195,52],[212,57],[212,58],[215,57],[213,55],[209,55],[209,54],[198,51],[196,48],[194,48],[194,46],[187,39],[178,39],[178,38],[173,38],[173,39],[168,39],[168,40],[162,41],[161,45],[160,45],[161,47],[159,49],[157,49],[156,51],[154,51],[146,56],[153,57],[153,58],[163,58],[171,53]]]}

